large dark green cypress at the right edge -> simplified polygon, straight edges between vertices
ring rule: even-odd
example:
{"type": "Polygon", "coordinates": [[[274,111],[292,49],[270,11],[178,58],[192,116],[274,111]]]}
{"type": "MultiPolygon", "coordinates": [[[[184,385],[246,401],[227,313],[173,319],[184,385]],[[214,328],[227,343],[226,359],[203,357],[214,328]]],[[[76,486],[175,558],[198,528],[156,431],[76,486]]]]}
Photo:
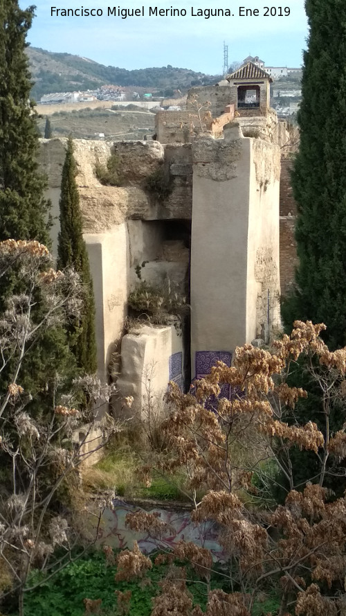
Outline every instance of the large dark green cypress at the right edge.
{"type": "Polygon", "coordinates": [[[296,288],[282,306],[294,319],[324,322],[331,349],[346,344],[346,3],[306,0],[300,150],[292,184],[298,204],[296,288]]]}

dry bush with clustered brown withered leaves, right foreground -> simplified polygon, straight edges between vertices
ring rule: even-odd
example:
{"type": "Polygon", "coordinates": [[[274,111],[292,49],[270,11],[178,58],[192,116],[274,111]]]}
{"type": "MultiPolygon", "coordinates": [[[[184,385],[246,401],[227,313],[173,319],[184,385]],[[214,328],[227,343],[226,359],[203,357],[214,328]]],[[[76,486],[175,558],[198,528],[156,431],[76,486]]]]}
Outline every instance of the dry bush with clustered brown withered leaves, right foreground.
{"type": "MultiPolygon", "coordinates": [[[[302,616],[344,613],[346,500],[330,498],[324,484],[327,460],[346,454],[345,429],[333,434],[329,428],[331,406],[345,396],[346,349],[331,353],[319,337],[324,328],[295,322],[291,335],[275,342],[272,352],[251,344],[237,348],[233,367],[217,362],[190,394],[182,394],[173,383],[170,386],[172,410],[161,425],[169,448],[156,464],[167,475],[185,469],[192,518],[219,525],[219,541],[230,558],[223,579],[237,590],[210,592],[206,609],[210,616],[253,615],[256,597],[268,583],[275,584],[280,595],[278,616],[292,610],[302,616]],[[295,404],[307,393],[289,387],[286,379],[302,357],[322,393],[324,434],[311,421],[305,425],[294,421],[295,404]],[[230,387],[230,396],[220,398],[225,385],[230,387]],[[246,438],[253,447],[252,459],[233,455],[246,438]],[[292,448],[316,455],[318,471],[311,477],[313,483],[295,485],[292,448]],[[246,507],[239,498],[244,493],[252,496],[255,472],[265,477],[265,466],[261,469],[259,460],[261,464],[275,461],[290,486],[284,504],[273,504],[269,511],[246,507]],[[206,494],[199,500],[197,489],[201,487],[206,494]]],[[[148,477],[150,472],[150,465],[145,466],[148,477]]],[[[158,520],[145,513],[142,517],[136,520],[136,529],[145,528],[164,547],[157,537],[158,520]]],[[[199,571],[208,587],[210,556],[185,542],[179,543],[176,554],[199,571]]],[[[172,613],[170,606],[183,616],[201,615],[200,608],[192,610],[184,575],[181,570],[163,583],[153,615],[172,613]]]]}

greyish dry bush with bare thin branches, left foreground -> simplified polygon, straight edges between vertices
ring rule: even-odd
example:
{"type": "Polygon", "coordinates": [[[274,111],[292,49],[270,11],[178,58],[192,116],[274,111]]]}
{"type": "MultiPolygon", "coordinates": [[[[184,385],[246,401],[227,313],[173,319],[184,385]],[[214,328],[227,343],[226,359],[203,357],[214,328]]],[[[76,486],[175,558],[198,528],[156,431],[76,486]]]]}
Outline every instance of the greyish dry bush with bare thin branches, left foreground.
{"type": "MultiPolygon", "coordinates": [[[[82,308],[78,274],[55,271],[52,265],[48,249],[37,241],[0,243],[0,278],[16,273],[21,285],[21,294],[8,297],[0,318],[0,595],[17,599],[20,616],[24,592],[41,583],[33,581],[28,587],[33,568],[49,579],[56,568],[71,562],[72,549],[80,545],[87,504],[78,469],[118,430],[100,408],[114,387],[92,375],[71,383],[55,374],[39,392],[40,412],[33,412],[31,403],[38,393],[34,386],[30,390],[30,381],[24,385],[24,358],[28,351],[41,349],[42,333],[69,324],[82,308]],[[63,549],[62,556],[56,555],[57,547],[63,549]]],[[[108,497],[90,504],[96,536],[108,497]]]]}

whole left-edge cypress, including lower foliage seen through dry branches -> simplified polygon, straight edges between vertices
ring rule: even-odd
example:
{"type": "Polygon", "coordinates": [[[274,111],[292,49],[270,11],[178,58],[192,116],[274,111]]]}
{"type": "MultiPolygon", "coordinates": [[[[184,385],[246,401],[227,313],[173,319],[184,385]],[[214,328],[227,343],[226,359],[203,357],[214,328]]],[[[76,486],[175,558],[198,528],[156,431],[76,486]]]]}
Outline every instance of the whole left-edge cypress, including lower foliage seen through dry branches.
{"type": "MultiPolygon", "coordinates": [[[[34,8],[21,10],[17,0],[0,0],[0,241],[38,240],[49,247],[50,204],[44,199],[46,182],[37,164],[39,130],[30,102],[32,83],[25,52],[34,8]]],[[[0,311],[6,309],[11,294],[23,292],[22,276],[14,266],[1,276],[0,311]]],[[[37,323],[44,316],[40,299],[38,289],[33,307],[37,323]]],[[[7,391],[12,372],[12,362],[8,362],[1,371],[1,393],[7,391]]],[[[28,345],[19,375],[21,386],[33,396],[28,410],[44,413],[52,403],[47,391],[54,389],[57,375],[64,382],[75,373],[64,323],[43,329],[35,345],[28,345]]]]}

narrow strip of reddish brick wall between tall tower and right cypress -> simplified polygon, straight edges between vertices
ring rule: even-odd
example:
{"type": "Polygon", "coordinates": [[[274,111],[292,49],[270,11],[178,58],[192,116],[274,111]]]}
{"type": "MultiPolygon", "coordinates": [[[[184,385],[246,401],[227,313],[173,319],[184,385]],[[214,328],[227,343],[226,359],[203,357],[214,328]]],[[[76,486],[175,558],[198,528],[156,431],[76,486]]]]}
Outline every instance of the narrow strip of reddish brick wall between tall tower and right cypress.
{"type": "Polygon", "coordinates": [[[280,176],[280,286],[286,295],[294,283],[298,263],[294,238],[297,206],[291,188],[291,160],[282,159],[280,176]]]}

